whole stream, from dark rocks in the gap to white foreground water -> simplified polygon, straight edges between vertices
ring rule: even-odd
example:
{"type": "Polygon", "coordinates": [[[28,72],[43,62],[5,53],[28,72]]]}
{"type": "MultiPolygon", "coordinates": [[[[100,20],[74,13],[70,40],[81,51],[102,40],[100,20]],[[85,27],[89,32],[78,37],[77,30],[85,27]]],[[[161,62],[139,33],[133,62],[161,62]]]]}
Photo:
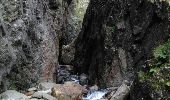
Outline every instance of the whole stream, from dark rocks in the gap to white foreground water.
{"type": "MultiPolygon", "coordinates": [[[[73,75],[73,71],[70,70],[71,68],[67,66],[60,66],[58,70],[58,83],[63,84],[67,81],[74,81],[75,83],[78,83],[82,86],[86,85],[88,86],[88,76],[86,74],[73,75]]],[[[98,87],[97,87],[98,88],[98,87]]],[[[108,93],[107,89],[94,89],[91,90],[90,87],[87,89],[87,93],[84,94],[83,100],[99,100],[103,99],[103,97],[108,93]]]]}

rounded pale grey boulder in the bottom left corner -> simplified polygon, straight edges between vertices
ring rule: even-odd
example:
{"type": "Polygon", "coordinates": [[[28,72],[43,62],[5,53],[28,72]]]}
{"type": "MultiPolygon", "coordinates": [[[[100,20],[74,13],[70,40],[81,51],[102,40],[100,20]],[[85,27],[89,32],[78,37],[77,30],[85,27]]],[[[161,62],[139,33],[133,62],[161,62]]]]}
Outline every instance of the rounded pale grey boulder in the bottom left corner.
{"type": "Polygon", "coordinates": [[[27,100],[26,95],[19,93],[15,90],[7,90],[0,94],[0,100],[27,100]]]}

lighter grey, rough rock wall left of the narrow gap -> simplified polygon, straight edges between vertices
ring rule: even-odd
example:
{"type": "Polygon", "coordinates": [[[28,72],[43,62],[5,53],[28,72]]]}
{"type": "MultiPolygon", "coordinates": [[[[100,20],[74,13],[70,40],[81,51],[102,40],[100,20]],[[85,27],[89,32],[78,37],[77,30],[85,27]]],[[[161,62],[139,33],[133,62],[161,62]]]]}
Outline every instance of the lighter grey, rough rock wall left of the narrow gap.
{"type": "Polygon", "coordinates": [[[0,92],[56,80],[60,48],[80,30],[78,4],[77,0],[0,0],[0,92]]]}

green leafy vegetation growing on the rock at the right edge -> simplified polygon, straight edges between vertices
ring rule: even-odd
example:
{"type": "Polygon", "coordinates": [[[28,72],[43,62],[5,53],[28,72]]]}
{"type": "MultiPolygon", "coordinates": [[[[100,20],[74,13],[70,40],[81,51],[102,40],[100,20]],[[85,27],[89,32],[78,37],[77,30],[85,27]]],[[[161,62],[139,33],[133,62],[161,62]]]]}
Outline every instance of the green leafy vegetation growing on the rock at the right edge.
{"type": "Polygon", "coordinates": [[[170,39],[154,49],[154,58],[147,62],[147,71],[140,71],[138,76],[141,83],[149,82],[154,90],[170,88],[170,39]]]}

